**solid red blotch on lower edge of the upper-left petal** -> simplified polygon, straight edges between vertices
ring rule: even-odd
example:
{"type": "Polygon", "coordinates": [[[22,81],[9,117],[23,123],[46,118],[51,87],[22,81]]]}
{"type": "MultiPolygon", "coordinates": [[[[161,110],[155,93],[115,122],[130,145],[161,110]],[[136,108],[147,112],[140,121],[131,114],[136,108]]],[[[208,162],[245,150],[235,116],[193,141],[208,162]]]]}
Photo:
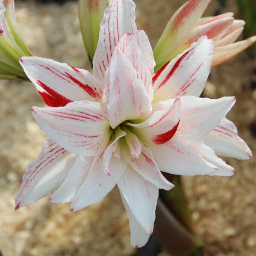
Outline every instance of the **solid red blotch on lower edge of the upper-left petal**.
{"type": "Polygon", "coordinates": [[[46,84],[44,84],[41,81],[37,81],[37,83],[47,92],[39,91],[39,94],[43,98],[44,102],[51,107],[60,107],[65,106],[68,103],[73,102],[70,99],[67,99],[66,97],[60,95],[58,92],[54,91],[50,87],[48,87],[46,84]]]}

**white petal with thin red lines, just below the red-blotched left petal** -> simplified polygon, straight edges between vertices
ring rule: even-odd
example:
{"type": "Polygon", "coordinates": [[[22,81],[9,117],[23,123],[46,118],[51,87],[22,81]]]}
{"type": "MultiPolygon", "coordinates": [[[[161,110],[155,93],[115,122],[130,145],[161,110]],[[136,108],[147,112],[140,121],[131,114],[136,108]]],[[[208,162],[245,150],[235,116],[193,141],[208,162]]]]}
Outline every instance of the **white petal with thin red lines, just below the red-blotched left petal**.
{"type": "Polygon", "coordinates": [[[102,142],[110,138],[110,127],[100,103],[76,101],[65,107],[32,108],[41,129],[70,152],[95,156],[102,142]]]}

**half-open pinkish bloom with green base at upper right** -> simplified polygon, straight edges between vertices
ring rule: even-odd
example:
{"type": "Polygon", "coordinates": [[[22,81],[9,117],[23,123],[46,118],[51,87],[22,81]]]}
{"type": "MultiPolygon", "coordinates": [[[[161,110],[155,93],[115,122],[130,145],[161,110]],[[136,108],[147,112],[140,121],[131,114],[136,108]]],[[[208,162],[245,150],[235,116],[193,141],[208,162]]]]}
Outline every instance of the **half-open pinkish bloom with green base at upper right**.
{"type": "Polygon", "coordinates": [[[235,20],[233,13],[200,18],[209,2],[210,0],[189,0],[174,13],[154,49],[155,70],[203,35],[214,42],[212,66],[242,52],[256,41],[254,36],[234,43],[243,31],[245,22],[235,20]]]}

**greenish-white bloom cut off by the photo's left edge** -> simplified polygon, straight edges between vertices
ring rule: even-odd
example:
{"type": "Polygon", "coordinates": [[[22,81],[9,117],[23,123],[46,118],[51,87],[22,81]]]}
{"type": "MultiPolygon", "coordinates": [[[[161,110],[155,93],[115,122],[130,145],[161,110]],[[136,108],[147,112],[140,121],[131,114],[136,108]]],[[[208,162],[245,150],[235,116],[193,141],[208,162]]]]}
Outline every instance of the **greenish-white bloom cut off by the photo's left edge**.
{"type": "Polygon", "coordinates": [[[27,79],[19,64],[31,56],[15,19],[14,1],[0,1],[0,79],[27,79]]]}

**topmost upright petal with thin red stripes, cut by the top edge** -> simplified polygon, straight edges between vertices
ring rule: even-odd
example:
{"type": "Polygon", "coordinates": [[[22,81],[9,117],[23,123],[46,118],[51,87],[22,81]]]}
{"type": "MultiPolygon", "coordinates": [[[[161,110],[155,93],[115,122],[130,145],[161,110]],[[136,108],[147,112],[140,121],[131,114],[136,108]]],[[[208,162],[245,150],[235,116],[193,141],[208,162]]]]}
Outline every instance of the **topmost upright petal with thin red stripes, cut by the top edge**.
{"type": "Polygon", "coordinates": [[[125,33],[137,30],[135,4],[131,0],[112,0],[100,24],[98,46],[93,58],[93,74],[104,79],[115,46],[125,33]]]}

